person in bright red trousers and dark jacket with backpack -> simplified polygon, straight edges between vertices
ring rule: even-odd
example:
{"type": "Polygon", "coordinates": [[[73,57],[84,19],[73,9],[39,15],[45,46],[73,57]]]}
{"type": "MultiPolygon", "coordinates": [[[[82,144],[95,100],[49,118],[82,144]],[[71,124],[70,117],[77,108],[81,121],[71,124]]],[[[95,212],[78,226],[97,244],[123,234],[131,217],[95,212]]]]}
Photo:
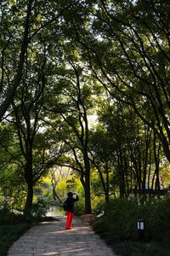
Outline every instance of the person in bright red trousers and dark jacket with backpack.
{"type": "Polygon", "coordinates": [[[78,195],[76,193],[69,192],[65,201],[66,204],[66,223],[65,230],[71,230],[72,220],[74,218],[74,202],[78,201],[78,195]]]}

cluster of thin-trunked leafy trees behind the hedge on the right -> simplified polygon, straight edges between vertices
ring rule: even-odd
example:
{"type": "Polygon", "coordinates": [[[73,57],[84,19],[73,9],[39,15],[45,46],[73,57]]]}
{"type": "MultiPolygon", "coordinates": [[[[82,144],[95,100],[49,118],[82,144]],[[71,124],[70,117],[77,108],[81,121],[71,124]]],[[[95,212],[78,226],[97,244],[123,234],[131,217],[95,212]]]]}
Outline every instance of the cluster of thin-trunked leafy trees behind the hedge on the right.
{"type": "MultiPolygon", "coordinates": [[[[99,128],[92,136],[92,152],[95,168],[100,168],[99,172],[107,177],[105,182],[111,177],[110,194],[119,191],[121,197],[133,195],[141,200],[146,199],[146,194],[148,198],[159,197],[161,166],[167,160],[156,133],[139,119],[133,108],[111,102],[111,97],[103,104],[105,108],[98,113],[99,128]]],[[[166,172],[164,169],[165,175],[166,172]]],[[[103,177],[103,185],[102,180],[103,177]]]]}

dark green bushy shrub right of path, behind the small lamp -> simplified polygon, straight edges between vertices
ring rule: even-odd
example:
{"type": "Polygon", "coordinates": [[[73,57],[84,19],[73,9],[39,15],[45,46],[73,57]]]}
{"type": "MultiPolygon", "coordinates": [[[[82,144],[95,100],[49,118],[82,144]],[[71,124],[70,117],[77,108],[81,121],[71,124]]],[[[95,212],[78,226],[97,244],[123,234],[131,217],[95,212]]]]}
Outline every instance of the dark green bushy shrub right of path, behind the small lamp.
{"type": "Polygon", "coordinates": [[[94,223],[94,230],[108,243],[137,241],[138,219],[144,219],[145,241],[160,241],[170,233],[170,200],[139,205],[138,201],[113,200],[105,216],[94,223]]]}

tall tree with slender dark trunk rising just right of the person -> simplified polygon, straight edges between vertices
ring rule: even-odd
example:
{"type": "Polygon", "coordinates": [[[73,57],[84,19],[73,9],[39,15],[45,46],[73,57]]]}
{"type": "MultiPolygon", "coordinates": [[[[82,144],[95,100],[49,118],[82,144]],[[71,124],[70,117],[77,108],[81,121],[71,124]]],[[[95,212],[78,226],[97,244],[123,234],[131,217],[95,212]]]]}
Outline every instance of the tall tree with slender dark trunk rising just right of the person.
{"type": "MultiPolygon", "coordinates": [[[[65,154],[71,154],[74,161],[67,166],[77,170],[85,191],[85,212],[91,212],[90,160],[88,114],[93,108],[93,81],[82,66],[76,49],[69,44],[63,46],[63,61],[55,68],[51,100],[47,109],[54,113],[55,129],[59,129],[60,143],[65,143],[65,154]],[[55,93],[54,93],[55,91],[55,93]]],[[[85,65],[85,64],[83,64],[85,65]]],[[[60,163],[65,165],[64,163],[60,163]]]]}

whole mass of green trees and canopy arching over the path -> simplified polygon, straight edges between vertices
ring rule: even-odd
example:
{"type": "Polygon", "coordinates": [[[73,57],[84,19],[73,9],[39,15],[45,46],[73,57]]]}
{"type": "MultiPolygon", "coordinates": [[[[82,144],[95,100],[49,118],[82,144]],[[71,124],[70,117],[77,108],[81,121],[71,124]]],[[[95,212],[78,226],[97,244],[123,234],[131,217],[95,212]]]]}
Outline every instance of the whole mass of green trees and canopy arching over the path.
{"type": "MultiPolygon", "coordinates": [[[[167,193],[169,5],[3,1],[2,204],[30,218],[42,177],[59,166],[80,180],[86,213],[113,197],[144,203],[167,193]]],[[[69,187],[59,195],[51,175],[61,203],[69,187]]]]}

